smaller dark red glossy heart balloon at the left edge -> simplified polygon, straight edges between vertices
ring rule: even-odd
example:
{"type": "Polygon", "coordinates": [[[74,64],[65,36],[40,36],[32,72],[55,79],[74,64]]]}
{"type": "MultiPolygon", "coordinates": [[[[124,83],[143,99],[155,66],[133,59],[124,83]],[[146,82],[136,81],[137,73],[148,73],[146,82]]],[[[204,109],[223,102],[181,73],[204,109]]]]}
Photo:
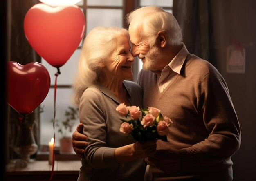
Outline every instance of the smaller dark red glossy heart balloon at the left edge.
{"type": "Polygon", "coordinates": [[[23,116],[30,114],[49,92],[49,72],[38,62],[20,65],[9,61],[6,63],[6,73],[7,103],[23,116]]]}

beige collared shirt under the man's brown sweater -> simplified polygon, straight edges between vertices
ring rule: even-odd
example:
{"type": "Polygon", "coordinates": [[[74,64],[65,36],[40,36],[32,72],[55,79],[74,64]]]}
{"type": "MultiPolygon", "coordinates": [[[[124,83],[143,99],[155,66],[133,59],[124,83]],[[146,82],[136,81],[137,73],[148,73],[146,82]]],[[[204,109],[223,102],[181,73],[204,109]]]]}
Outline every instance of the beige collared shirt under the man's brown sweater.
{"type": "Polygon", "coordinates": [[[160,92],[167,87],[169,83],[173,80],[175,74],[180,74],[180,70],[183,66],[184,60],[188,55],[188,50],[186,46],[183,44],[182,49],[179,53],[171,60],[171,62],[162,69],[161,75],[157,75],[157,85],[160,92]]]}

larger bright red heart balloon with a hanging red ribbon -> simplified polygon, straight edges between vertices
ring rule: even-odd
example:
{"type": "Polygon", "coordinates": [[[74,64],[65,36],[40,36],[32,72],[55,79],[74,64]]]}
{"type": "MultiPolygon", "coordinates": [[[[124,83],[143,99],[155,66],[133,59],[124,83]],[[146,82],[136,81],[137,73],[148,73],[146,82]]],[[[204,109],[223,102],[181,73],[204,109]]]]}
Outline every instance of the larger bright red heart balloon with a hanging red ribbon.
{"type": "Polygon", "coordinates": [[[50,7],[39,3],[27,11],[24,31],[41,57],[50,65],[61,67],[83,38],[85,17],[76,5],[50,7]]]}

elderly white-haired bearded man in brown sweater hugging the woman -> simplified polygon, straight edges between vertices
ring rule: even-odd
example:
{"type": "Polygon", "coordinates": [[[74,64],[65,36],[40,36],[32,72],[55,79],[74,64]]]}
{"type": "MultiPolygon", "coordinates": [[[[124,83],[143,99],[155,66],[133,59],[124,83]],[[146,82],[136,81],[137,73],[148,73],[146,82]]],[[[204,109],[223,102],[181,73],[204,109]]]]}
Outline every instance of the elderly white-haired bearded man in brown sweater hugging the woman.
{"type": "MultiPolygon", "coordinates": [[[[143,105],[159,108],[173,121],[168,142],[158,140],[157,153],[146,159],[153,180],[231,181],[240,126],[225,80],[213,65],[187,51],[171,13],[141,7],[127,21],[132,55],[143,62],[137,80],[143,105]]],[[[81,127],[73,134],[78,155],[86,144],[81,127]]]]}

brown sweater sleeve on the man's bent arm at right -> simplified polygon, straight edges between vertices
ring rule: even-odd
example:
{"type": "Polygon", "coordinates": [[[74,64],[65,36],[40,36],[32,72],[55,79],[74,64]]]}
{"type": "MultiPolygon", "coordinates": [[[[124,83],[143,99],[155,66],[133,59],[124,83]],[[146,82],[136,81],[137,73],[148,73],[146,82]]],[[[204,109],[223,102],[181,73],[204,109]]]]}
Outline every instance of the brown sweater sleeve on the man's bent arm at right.
{"type": "Polygon", "coordinates": [[[240,147],[240,126],[225,80],[211,72],[195,89],[197,110],[209,132],[208,138],[180,150],[182,167],[211,166],[232,156],[240,147]]]}

